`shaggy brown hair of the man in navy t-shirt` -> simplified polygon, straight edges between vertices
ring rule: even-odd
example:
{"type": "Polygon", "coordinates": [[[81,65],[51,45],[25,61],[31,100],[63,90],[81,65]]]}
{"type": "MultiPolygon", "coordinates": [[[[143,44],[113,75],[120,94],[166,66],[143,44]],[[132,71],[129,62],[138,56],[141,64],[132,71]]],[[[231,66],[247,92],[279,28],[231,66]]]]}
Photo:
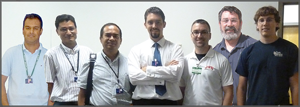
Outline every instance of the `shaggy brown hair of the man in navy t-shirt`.
{"type": "MultiPolygon", "coordinates": [[[[254,15],[254,21],[255,21],[255,24],[257,24],[257,21],[258,21],[258,18],[259,16],[265,16],[265,15],[274,15],[274,18],[275,18],[275,21],[277,23],[280,22],[280,16],[279,16],[279,12],[277,11],[277,9],[273,6],[263,6],[263,7],[260,7],[255,15],[254,15]]],[[[276,31],[279,29],[279,27],[276,27],[276,31]]],[[[256,28],[256,30],[258,31],[258,28],[256,28]]]]}

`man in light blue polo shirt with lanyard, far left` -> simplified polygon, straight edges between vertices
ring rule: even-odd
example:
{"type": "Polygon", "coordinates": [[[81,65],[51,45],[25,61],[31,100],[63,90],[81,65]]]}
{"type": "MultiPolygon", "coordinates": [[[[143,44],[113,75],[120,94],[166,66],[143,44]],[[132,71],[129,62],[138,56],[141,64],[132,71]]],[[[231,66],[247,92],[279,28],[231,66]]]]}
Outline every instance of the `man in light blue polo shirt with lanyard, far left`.
{"type": "Polygon", "coordinates": [[[47,105],[49,93],[43,70],[47,51],[39,42],[42,20],[38,14],[26,14],[23,20],[23,44],[7,49],[2,57],[2,105],[47,105]],[[7,95],[5,81],[8,78],[7,95]]]}

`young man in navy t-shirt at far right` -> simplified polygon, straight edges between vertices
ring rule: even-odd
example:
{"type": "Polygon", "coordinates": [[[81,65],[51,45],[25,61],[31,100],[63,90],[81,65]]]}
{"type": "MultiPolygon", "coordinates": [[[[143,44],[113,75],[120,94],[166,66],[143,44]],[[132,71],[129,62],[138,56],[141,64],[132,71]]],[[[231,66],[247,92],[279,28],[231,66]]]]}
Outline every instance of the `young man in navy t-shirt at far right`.
{"type": "Polygon", "coordinates": [[[276,8],[259,8],[254,21],[260,40],[240,54],[235,70],[239,74],[237,105],[288,105],[289,87],[292,104],[298,105],[297,46],[276,35],[280,22],[276,8]]]}

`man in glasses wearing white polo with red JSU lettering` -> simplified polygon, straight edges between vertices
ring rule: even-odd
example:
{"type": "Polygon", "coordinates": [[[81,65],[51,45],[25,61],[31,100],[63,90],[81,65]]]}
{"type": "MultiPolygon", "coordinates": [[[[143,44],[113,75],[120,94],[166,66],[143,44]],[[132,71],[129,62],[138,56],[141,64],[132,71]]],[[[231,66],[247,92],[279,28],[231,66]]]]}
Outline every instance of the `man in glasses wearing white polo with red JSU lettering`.
{"type": "Polygon", "coordinates": [[[183,105],[231,105],[233,77],[228,59],[212,49],[210,26],[204,19],[192,23],[194,50],[184,56],[180,80],[183,105]],[[224,91],[224,95],[222,92],[224,91]]]}

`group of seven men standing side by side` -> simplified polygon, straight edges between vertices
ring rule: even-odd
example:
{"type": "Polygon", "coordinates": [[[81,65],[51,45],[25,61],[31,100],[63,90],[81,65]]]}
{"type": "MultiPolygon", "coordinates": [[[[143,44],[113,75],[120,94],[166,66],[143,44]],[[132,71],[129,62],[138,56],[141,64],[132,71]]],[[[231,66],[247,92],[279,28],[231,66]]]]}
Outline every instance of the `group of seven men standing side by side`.
{"type": "Polygon", "coordinates": [[[85,97],[93,51],[77,44],[74,17],[56,17],[61,43],[47,50],[39,42],[41,17],[26,14],[23,44],[2,57],[2,104],[84,105],[89,98],[89,105],[287,105],[290,88],[292,104],[298,105],[298,48],[277,37],[276,8],[257,10],[256,40],[241,33],[240,10],[224,6],[218,13],[223,39],[215,47],[208,44],[209,23],[195,20],[190,29],[194,49],[185,56],[181,46],[164,38],[164,19],[158,7],[145,11],[149,39],[133,46],[128,57],[118,51],[119,26],[104,24],[103,49],[96,53],[92,90],[85,97]]]}

